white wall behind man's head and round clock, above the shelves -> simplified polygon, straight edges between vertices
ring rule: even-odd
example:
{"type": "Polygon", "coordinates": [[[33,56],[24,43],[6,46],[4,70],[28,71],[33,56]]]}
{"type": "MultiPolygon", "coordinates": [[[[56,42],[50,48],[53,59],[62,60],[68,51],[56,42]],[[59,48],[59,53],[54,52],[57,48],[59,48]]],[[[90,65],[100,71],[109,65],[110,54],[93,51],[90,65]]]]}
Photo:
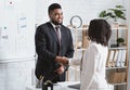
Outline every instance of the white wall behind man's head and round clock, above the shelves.
{"type": "Polygon", "coordinates": [[[81,16],[83,24],[89,24],[90,20],[98,17],[102,10],[114,8],[116,4],[125,5],[126,0],[38,0],[36,16],[38,24],[49,21],[48,7],[53,2],[62,5],[63,23],[69,25],[69,21],[74,15],[81,16]]]}

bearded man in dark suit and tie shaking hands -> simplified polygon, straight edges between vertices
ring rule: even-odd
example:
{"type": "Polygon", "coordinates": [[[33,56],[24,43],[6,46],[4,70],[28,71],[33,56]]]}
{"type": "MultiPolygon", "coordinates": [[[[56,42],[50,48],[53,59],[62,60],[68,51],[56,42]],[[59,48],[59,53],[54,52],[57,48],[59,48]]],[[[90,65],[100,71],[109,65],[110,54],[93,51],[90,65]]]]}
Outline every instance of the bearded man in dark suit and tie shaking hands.
{"type": "Polygon", "coordinates": [[[58,3],[49,7],[50,22],[38,26],[36,30],[36,76],[52,82],[65,81],[67,59],[73,57],[74,46],[70,29],[63,23],[63,12],[58,3]]]}

